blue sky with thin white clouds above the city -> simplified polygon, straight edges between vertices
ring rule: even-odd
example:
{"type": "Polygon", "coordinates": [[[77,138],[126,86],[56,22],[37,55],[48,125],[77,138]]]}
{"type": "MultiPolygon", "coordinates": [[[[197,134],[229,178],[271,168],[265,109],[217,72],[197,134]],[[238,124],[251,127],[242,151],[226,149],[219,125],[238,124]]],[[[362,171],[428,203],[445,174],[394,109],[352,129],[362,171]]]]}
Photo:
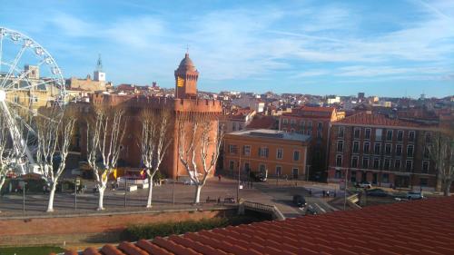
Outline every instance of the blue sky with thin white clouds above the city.
{"type": "Polygon", "coordinates": [[[189,48],[202,91],[454,94],[454,1],[0,0],[65,77],[174,86],[189,48]]]}

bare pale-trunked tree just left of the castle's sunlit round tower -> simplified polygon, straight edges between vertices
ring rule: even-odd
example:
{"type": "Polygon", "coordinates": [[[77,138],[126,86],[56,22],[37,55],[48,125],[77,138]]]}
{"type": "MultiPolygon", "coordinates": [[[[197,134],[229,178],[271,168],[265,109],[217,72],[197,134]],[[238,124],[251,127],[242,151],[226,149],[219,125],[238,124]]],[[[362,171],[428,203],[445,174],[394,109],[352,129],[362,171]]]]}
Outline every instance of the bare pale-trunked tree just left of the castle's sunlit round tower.
{"type": "Polygon", "coordinates": [[[147,208],[152,207],[153,176],[159,171],[167,148],[172,143],[170,127],[172,114],[168,110],[159,112],[146,109],[141,114],[142,136],[140,147],[143,166],[148,176],[147,208]]]}

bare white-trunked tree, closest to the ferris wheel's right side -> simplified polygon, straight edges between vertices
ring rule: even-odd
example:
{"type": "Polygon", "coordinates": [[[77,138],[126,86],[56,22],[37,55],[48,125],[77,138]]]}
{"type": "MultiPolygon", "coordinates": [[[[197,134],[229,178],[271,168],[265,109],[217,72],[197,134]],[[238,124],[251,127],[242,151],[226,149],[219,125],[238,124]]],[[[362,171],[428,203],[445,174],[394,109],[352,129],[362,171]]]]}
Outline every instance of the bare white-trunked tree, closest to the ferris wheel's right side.
{"type": "MultiPolygon", "coordinates": [[[[58,179],[64,172],[66,157],[74,130],[75,116],[71,110],[66,110],[63,115],[56,113],[61,111],[56,107],[49,111],[47,117],[38,117],[36,120],[36,135],[38,148],[36,151],[36,163],[39,165],[41,177],[50,187],[47,212],[54,211],[54,194],[58,179]],[[52,118],[56,116],[56,118],[52,118]],[[60,162],[54,170],[54,155],[60,156],[60,162]]],[[[44,115],[44,114],[43,114],[44,115]]]]}

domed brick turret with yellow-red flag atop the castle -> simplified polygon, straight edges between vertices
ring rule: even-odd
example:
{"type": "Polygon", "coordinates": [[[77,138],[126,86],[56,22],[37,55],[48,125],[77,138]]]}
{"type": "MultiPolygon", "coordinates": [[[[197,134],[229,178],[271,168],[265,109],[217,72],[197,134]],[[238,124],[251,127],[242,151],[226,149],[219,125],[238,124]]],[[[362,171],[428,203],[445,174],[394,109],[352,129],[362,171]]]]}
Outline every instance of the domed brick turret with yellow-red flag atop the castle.
{"type": "Polygon", "coordinates": [[[189,54],[186,53],[178,69],[175,70],[175,98],[195,98],[199,72],[195,69],[189,54]]]}

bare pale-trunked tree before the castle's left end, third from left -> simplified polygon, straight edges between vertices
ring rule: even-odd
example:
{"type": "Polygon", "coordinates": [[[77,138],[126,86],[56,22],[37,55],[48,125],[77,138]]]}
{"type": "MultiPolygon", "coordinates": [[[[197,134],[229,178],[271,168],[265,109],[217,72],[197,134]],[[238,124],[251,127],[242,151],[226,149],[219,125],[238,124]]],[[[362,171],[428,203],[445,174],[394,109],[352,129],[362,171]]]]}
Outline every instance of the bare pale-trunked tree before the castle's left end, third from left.
{"type": "Polygon", "coordinates": [[[125,130],[124,110],[118,107],[97,107],[94,118],[87,121],[87,162],[99,192],[98,211],[104,210],[104,191],[118,162],[125,130]]]}

